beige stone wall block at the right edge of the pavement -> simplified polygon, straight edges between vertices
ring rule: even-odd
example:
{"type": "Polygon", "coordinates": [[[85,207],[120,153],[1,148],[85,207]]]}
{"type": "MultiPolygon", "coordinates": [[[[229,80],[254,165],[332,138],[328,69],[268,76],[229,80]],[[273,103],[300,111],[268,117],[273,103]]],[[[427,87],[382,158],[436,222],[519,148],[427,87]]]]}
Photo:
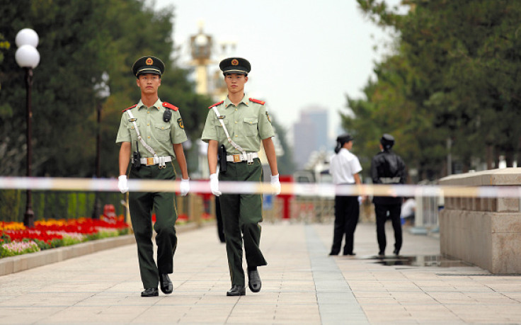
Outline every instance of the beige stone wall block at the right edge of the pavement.
{"type": "MultiPolygon", "coordinates": [[[[440,186],[521,186],[521,168],[442,178],[440,186]]],[[[449,198],[440,212],[442,254],[489,270],[521,273],[521,204],[516,188],[498,188],[494,198],[449,198]]]]}

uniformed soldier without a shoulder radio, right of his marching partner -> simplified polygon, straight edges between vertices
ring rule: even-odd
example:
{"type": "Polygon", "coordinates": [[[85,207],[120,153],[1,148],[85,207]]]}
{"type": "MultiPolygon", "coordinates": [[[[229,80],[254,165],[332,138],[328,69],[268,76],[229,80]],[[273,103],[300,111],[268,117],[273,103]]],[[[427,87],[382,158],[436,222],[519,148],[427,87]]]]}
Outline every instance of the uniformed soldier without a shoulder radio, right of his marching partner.
{"type": "Polygon", "coordinates": [[[229,296],[246,295],[242,250],[248,266],[248,287],[259,292],[261,287],[257,267],[267,262],[260,251],[260,224],[262,217],[262,195],[221,193],[220,181],[263,180],[263,169],[258,159],[262,142],[271,169],[273,193],[280,193],[277,157],[271,137],[275,135],[270,117],[263,101],[248,98],[244,85],[248,81],[251,65],[241,57],[230,57],[219,64],[227,84],[226,100],[210,106],[202,140],[208,142],[208,164],[210,166],[210,188],[220,200],[224,236],[230,270],[231,289],[229,296]],[[220,165],[217,176],[217,150],[225,161],[220,165]],[[221,148],[224,148],[223,151],[221,148]],[[224,171],[226,169],[226,171],[224,171]]]}

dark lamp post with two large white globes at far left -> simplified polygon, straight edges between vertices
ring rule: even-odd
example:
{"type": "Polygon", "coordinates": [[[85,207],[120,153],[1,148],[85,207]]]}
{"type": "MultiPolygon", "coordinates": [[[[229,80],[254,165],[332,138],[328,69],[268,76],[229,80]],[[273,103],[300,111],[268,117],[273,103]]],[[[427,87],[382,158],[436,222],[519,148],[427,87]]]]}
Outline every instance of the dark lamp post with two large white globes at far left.
{"type": "MultiPolygon", "coordinates": [[[[18,50],[15,53],[15,59],[18,66],[25,69],[25,119],[27,122],[26,138],[27,138],[27,177],[31,176],[30,165],[33,156],[33,150],[31,146],[31,133],[33,113],[31,112],[31,89],[33,86],[33,69],[38,67],[40,63],[40,53],[36,50],[38,46],[38,34],[30,29],[24,28],[16,34],[15,38],[16,46],[18,50]]],[[[23,224],[25,227],[34,227],[34,212],[33,212],[33,194],[30,189],[27,190],[27,196],[25,201],[25,214],[23,215],[23,224]]]]}

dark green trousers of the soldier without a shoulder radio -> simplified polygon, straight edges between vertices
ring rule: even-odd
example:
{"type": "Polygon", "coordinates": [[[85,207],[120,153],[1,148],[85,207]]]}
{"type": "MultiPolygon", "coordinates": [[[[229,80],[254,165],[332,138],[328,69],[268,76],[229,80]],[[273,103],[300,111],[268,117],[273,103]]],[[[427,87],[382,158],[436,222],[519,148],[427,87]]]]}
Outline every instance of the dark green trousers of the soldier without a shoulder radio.
{"type": "MultiPolygon", "coordinates": [[[[263,168],[259,159],[253,164],[246,161],[228,163],[228,170],[219,173],[220,181],[260,182],[263,179],[263,168]]],[[[260,251],[260,224],[263,221],[260,194],[222,194],[221,205],[224,236],[230,270],[231,285],[244,285],[244,269],[242,268],[242,246],[248,268],[265,266],[263,253],[260,251]],[[242,236],[241,236],[242,233],[242,236]]]]}

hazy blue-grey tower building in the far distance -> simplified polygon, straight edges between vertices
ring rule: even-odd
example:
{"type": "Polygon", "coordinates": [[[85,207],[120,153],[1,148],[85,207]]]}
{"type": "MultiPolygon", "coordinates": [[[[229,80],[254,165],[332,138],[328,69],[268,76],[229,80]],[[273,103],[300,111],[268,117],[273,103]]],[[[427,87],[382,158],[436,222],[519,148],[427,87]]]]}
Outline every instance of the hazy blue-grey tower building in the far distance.
{"type": "Polygon", "coordinates": [[[312,152],[328,149],[328,111],[317,107],[302,111],[293,125],[293,144],[297,169],[304,169],[312,152]]]}

